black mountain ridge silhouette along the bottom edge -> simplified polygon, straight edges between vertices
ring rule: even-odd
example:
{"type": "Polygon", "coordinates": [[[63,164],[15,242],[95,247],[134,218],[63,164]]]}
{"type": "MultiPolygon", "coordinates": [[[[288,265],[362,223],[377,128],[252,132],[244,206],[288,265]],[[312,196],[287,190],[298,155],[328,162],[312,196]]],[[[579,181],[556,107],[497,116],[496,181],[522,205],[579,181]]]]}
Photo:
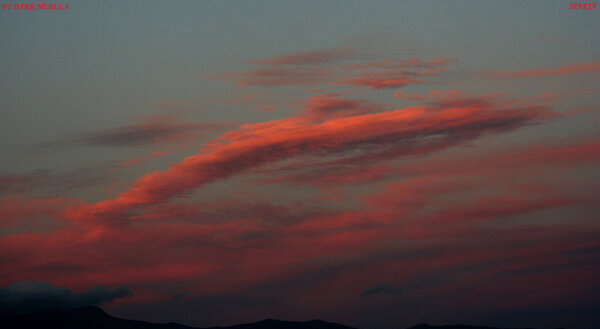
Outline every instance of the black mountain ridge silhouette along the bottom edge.
{"type": "MultiPolygon", "coordinates": [[[[48,311],[30,314],[0,316],[0,328],[19,329],[200,329],[177,323],[150,323],[145,321],[124,320],[108,315],[101,308],[86,306],[82,308],[48,311]]],[[[209,329],[356,329],[322,320],[306,322],[263,320],[254,323],[209,329]]],[[[501,329],[483,326],[430,326],[420,324],[409,329],[501,329]]],[[[531,329],[531,328],[527,328],[531,329]]]]}

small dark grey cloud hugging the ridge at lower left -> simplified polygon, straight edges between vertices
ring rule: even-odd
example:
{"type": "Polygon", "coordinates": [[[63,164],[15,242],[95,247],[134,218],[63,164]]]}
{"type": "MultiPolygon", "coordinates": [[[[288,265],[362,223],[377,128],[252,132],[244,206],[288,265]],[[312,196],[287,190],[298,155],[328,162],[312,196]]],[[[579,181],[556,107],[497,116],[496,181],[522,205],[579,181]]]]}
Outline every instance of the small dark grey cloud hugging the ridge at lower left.
{"type": "Polygon", "coordinates": [[[98,286],[80,293],[68,287],[54,287],[49,282],[21,281],[0,289],[0,314],[63,310],[110,303],[116,298],[132,296],[125,286],[109,290],[98,286]]]}

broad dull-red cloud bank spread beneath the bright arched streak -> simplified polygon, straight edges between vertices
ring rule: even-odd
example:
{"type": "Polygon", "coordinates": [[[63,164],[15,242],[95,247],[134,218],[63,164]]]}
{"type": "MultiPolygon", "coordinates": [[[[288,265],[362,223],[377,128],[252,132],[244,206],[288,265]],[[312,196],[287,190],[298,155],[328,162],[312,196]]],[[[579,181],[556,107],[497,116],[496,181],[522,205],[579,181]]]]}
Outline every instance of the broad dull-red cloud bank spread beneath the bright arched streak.
{"type": "MultiPolygon", "coordinates": [[[[356,118],[364,119],[362,115],[356,118]]],[[[254,134],[276,124],[256,126],[254,134]]],[[[232,139],[238,142],[253,138],[249,131],[237,133],[232,139]]],[[[590,278],[600,270],[589,265],[598,256],[594,239],[598,228],[577,228],[576,222],[585,220],[578,217],[570,217],[569,225],[560,228],[514,221],[518,216],[581,200],[569,193],[555,195],[552,189],[521,193],[512,184],[487,197],[471,194],[489,189],[490,180],[480,176],[499,175],[491,181],[505,181],[511,176],[497,172],[507,163],[528,171],[538,161],[598,159],[597,143],[536,149],[551,157],[518,150],[489,163],[455,160],[462,171],[418,166],[421,176],[388,184],[367,198],[366,207],[356,210],[301,213],[299,209],[307,209],[306,205],[248,207],[236,200],[221,200],[217,206],[170,203],[153,206],[131,226],[96,222],[97,226],[92,224],[85,230],[67,227],[50,233],[5,236],[0,238],[0,248],[10,250],[5,256],[10,261],[0,270],[11,268],[3,277],[5,283],[52,280],[82,288],[98,282],[125,283],[134,291],[131,302],[136,303],[170,299],[172,295],[168,289],[163,291],[161,283],[189,284],[190,295],[197,297],[264,288],[273,280],[281,289],[291,289],[285,293],[294,301],[303,300],[304,294],[312,296],[305,297],[307,301],[322,298],[320,283],[345,290],[361,285],[350,291],[358,296],[373,281],[409,287],[403,290],[409,296],[460,290],[458,296],[478,300],[471,296],[473,280],[494,277],[506,281],[512,294],[529,295],[529,287],[545,289],[551,284],[548,280],[555,279],[545,271],[558,272],[567,282],[585,280],[580,285],[572,282],[569,289],[561,290],[562,296],[588,296],[585,291],[589,290],[590,278]],[[521,155],[523,152],[529,155],[521,155]],[[475,163],[480,170],[472,170],[467,163],[475,163]],[[459,194],[461,202],[454,202],[459,194]],[[510,225],[505,224],[507,218],[512,220],[510,225]],[[574,259],[577,262],[573,263],[574,259]],[[590,277],[578,274],[579,264],[588,264],[585,272],[591,272],[586,274],[590,277]],[[323,276],[323,268],[335,272],[323,276]],[[441,282],[427,279],[432,273],[456,271],[461,275],[441,282]],[[310,283],[306,288],[310,291],[300,296],[294,294],[298,278],[310,283]],[[197,280],[210,284],[198,285],[197,280]],[[156,286],[159,288],[153,291],[156,286]]],[[[493,286],[476,289],[503,296],[493,286]]],[[[510,304],[510,299],[504,300],[510,304]]],[[[537,305],[539,301],[520,303],[537,305]]]]}

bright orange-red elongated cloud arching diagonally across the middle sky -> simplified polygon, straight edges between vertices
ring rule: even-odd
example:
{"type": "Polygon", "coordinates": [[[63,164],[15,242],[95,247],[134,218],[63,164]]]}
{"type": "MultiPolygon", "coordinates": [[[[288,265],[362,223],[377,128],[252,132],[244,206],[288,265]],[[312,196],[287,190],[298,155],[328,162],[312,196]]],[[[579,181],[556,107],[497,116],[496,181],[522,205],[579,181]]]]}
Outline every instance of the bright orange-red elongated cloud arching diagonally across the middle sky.
{"type": "Polygon", "coordinates": [[[118,217],[137,206],[160,203],[208,182],[300,155],[340,156],[352,150],[348,161],[388,159],[419,152],[419,148],[431,152],[482,133],[515,129],[552,116],[543,108],[508,110],[468,103],[435,111],[412,107],[321,123],[299,116],[247,124],[166,171],[143,176],[117,198],[73,211],[76,217],[118,217]]]}

